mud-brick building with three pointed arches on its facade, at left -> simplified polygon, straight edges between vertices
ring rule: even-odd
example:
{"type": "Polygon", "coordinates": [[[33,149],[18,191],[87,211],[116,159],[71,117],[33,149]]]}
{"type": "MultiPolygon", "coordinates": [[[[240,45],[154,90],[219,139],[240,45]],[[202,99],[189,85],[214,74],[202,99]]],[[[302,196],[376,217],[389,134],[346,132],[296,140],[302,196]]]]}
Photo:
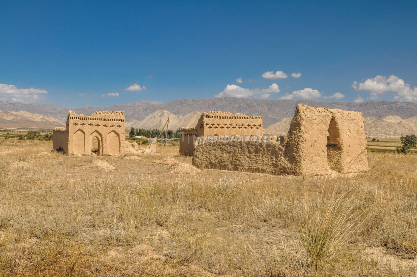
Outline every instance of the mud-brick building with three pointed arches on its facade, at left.
{"type": "Polygon", "coordinates": [[[53,130],[53,149],[67,154],[125,154],[123,111],[96,111],[91,116],[68,111],[65,128],[53,130]]]}

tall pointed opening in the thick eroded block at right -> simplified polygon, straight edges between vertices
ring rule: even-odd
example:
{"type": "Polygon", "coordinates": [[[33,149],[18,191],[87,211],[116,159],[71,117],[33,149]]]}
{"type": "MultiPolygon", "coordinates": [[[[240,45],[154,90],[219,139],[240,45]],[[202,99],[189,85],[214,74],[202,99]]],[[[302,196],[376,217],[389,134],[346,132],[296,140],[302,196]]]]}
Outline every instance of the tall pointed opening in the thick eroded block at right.
{"type": "Polygon", "coordinates": [[[327,164],[334,171],[341,171],[342,164],[342,146],[340,144],[340,132],[334,116],[330,120],[329,129],[327,130],[327,164]]]}

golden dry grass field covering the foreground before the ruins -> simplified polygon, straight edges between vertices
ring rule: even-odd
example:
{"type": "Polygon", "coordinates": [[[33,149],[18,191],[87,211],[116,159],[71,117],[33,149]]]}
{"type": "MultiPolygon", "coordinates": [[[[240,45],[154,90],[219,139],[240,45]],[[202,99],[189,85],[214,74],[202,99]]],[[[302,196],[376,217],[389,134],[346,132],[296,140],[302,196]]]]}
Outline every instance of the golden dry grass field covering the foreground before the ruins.
{"type": "Polygon", "coordinates": [[[0,140],[0,276],[414,276],[417,155],[301,177],[0,140]]]}

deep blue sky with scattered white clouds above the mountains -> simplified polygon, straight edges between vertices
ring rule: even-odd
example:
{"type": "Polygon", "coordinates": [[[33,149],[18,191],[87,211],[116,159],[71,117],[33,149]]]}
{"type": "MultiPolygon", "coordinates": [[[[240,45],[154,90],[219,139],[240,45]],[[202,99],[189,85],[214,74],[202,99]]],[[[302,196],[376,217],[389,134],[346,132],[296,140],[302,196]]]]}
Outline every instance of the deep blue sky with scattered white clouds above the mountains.
{"type": "Polygon", "coordinates": [[[61,2],[2,3],[0,99],[417,102],[415,1],[61,2]]]}

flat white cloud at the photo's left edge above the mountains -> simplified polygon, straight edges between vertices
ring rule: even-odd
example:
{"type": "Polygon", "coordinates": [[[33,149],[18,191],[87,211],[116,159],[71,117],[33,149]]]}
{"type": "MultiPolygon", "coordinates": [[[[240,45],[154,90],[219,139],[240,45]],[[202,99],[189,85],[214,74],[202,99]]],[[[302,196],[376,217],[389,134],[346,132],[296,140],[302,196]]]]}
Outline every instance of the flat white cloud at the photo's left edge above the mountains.
{"type": "Polygon", "coordinates": [[[48,91],[39,88],[17,88],[14,85],[0,84],[0,98],[12,99],[18,102],[29,103],[45,98],[48,91]]]}

